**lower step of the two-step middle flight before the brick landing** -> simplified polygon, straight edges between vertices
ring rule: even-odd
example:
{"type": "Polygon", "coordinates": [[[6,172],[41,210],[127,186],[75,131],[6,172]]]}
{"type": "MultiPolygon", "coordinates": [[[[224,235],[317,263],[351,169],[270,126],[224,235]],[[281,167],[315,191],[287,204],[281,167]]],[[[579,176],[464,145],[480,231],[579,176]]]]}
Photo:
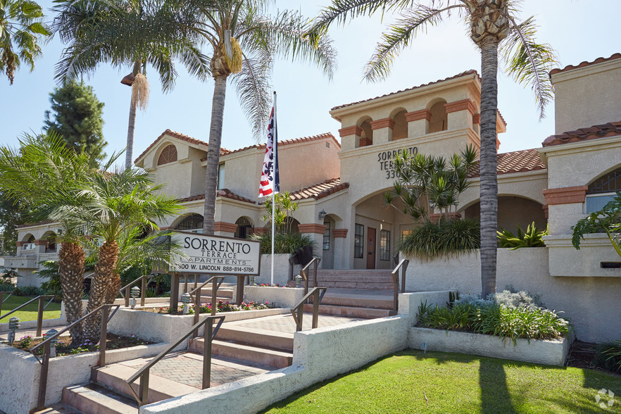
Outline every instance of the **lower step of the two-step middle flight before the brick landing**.
{"type": "MultiPolygon", "coordinates": [[[[189,350],[203,351],[203,338],[190,339],[189,350]]],[[[211,343],[213,355],[245,360],[251,363],[261,364],[273,368],[285,368],[293,362],[293,353],[276,351],[273,349],[257,348],[229,341],[214,339],[211,343]]]]}

